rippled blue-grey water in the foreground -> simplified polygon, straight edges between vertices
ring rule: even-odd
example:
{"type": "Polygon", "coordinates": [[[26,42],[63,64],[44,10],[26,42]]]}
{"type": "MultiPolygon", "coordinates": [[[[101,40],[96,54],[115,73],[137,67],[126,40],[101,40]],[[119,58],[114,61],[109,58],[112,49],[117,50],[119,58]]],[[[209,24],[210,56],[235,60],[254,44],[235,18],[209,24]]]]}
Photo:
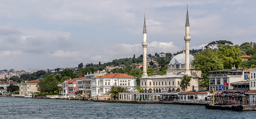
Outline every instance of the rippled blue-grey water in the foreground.
{"type": "Polygon", "coordinates": [[[1,119],[254,119],[256,111],[208,110],[200,105],[98,103],[0,97],[1,119]]]}

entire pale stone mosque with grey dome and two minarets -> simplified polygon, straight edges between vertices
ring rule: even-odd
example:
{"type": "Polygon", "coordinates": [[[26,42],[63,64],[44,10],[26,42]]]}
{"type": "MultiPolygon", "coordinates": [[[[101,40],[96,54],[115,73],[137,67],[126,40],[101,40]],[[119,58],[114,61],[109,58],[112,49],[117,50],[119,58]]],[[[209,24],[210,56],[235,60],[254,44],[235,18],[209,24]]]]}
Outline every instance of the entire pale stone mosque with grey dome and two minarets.
{"type": "MultiPolygon", "coordinates": [[[[191,91],[192,87],[195,90],[199,89],[199,78],[201,77],[201,72],[196,71],[191,61],[194,59],[193,55],[189,54],[189,41],[191,39],[189,34],[189,19],[188,19],[188,7],[187,7],[187,17],[185,23],[185,51],[178,54],[172,58],[168,64],[166,75],[152,75],[147,76],[146,63],[144,58],[147,57],[147,40],[146,40],[146,21],[144,17],[144,27],[143,27],[143,75],[140,78],[140,88],[144,93],[159,93],[162,91],[172,91],[181,92],[180,82],[184,75],[192,76],[190,81],[190,86],[186,91],[191,91]],[[145,65],[144,65],[145,64],[145,65]],[[144,69],[145,68],[145,69],[144,69]]],[[[145,60],[146,61],[146,60],[145,60]]]]}

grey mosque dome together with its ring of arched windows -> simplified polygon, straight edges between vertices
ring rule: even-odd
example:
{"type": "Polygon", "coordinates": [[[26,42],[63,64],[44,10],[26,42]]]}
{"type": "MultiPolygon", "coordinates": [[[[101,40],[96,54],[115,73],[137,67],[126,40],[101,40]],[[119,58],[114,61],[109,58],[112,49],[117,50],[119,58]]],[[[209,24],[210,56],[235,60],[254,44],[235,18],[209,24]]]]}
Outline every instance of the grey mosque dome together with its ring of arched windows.
{"type": "MultiPolygon", "coordinates": [[[[194,60],[194,56],[189,54],[189,68],[194,68],[191,64],[192,60],[194,60]]],[[[168,69],[185,69],[186,63],[186,54],[181,53],[175,55],[170,63],[168,64],[168,69]]]]}

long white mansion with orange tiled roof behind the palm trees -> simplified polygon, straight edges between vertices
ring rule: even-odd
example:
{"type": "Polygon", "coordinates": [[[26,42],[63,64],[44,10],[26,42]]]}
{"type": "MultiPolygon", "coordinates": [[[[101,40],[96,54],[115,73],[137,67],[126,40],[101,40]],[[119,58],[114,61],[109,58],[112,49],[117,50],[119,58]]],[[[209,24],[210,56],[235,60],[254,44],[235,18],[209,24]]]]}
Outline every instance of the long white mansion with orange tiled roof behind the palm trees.
{"type": "Polygon", "coordinates": [[[110,73],[91,78],[91,97],[104,96],[113,85],[121,86],[131,91],[136,88],[136,78],[127,74],[110,73]]]}

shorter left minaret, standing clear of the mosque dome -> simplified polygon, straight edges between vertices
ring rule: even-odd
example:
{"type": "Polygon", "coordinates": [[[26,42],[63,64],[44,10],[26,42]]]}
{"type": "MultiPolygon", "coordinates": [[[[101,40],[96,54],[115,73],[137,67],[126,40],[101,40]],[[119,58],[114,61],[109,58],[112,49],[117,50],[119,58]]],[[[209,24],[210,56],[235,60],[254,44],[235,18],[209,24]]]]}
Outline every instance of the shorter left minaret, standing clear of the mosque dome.
{"type": "Polygon", "coordinates": [[[146,18],[144,15],[144,26],[143,26],[143,74],[142,77],[147,77],[147,30],[146,30],[146,18]]]}

